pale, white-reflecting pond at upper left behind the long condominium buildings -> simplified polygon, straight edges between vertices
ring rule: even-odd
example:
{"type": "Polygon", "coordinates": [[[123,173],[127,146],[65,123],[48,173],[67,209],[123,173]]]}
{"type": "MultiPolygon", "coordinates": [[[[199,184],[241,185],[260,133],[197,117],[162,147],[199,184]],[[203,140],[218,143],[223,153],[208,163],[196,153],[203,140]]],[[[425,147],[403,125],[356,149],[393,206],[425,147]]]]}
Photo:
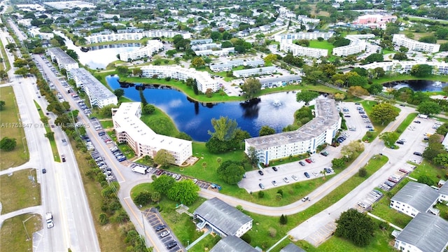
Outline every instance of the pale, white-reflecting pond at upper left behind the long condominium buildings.
{"type": "Polygon", "coordinates": [[[78,54],[79,62],[85,66],[87,65],[90,69],[104,69],[107,64],[118,60],[117,55],[120,54],[120,52],[129,52],[130,50],[136,50],[140,47],[139,43],[100,45],[94,47],[94,49],[98,50],[82,52],[80,48],[74,45],[73,41],[62,34],[62,32],[55,31],[55,34],[65,38],[65,45],[67,48],[74,50],[78,54]]]}

